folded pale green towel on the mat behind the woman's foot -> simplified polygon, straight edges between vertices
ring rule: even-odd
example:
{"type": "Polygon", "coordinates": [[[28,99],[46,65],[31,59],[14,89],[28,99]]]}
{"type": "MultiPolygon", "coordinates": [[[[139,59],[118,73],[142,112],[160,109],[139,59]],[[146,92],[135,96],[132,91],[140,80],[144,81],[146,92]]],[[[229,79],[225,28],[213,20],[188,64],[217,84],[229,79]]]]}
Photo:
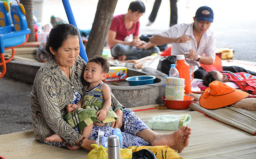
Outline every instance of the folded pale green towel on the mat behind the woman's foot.
{"type": "Polygon", "coordinates": [[[153,130],[177,130],[182,126],[187,126],[191,121],[189,114],[181,115],[159,115],[151,118],[147,125],[153,130]]]}

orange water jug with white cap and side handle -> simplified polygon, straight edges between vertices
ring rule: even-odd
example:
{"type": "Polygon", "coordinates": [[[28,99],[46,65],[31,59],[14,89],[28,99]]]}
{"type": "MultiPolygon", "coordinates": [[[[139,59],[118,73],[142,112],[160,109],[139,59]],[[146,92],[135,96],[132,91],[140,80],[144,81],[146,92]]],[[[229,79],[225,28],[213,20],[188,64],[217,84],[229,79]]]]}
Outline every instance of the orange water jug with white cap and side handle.
{"type": "Polygon", "coordinates": [[[194,72],[194,67],[190,66],[188,63],[185,61],[185,56],[183,54],[177,55],[175,63],[175,68],[177,68],[180,78],[185,79],[185,94],[191,93],[191,81],[194,79],[194,74],[192,73],[192,79],[190,78],[190,68],[192,68],[194,72]]]}

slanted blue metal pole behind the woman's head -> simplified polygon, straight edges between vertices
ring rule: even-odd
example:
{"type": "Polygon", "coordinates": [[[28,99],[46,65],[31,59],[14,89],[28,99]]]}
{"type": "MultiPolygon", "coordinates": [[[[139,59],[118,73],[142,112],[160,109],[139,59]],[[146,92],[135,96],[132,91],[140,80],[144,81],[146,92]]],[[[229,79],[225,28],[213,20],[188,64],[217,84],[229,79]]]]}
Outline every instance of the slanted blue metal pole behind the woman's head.
{"type": "MultiPolygon", "coordinates": [[[[74,25],[77,28],[77,30],[79,30],[78,27],[76,26],[76,21],[70,7],[70,2],[68,0],[62,0],[62,3],[64,5],[64,8],[67,14],[68,22],[74,25]]],[[[81,36],[80,36],[80,54],[79,55],[83,58],[85,62],[88,62],[88,57],[86,55],[85,48],[83,47],[83,41],[81,36]]]]}

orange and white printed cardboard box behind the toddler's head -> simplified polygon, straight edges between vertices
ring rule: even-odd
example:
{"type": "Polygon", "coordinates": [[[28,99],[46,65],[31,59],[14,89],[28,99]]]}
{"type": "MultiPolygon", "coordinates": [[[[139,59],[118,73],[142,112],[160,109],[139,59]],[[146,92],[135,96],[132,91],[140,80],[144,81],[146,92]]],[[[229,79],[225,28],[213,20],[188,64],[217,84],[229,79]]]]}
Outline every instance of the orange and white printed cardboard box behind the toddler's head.
{"type": "Polygon", "coordinates": [[[119,66],[110,66],[108,71],[108,76],[104,82],[111,81],[122,81],[127,78],[127,68],[119,66]]]}

